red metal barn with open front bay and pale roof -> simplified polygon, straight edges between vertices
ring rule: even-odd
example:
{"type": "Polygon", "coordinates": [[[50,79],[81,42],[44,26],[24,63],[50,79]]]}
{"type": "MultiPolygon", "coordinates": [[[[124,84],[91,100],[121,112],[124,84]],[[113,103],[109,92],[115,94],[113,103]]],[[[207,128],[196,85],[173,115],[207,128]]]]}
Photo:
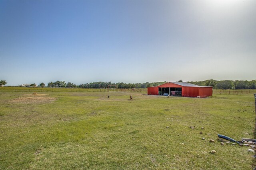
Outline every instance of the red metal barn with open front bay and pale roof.
{"type": "Polygon", "coordinates": [[[148,95],[168,95],[206,98],[212,96],[212,87],[198,86],[186,82],[167,82],[160,86],[148,87],[148,95]]]}

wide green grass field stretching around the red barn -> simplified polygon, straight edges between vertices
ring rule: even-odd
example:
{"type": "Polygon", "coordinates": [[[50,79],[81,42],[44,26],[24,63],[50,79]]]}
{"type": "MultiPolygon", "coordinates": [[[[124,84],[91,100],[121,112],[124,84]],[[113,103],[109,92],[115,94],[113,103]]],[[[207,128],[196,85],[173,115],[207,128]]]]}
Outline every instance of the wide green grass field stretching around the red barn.
{"type": "Polygon", "coordinates": [[[0,88],[0,169],[254,168],[248,147],[222,146],[217,136],[254,137],[252,94],[14,90],[0,88]]]}

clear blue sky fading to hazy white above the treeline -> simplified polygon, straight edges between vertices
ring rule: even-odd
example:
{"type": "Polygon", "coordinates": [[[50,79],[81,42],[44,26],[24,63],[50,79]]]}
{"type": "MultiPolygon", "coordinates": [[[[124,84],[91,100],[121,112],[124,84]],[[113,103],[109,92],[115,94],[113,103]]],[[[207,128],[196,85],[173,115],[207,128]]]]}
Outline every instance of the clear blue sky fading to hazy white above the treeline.
{"type": "Polygon", "coordinates": [[[0,1],[0,79],[256,79],[256,1],[0,1]]]}

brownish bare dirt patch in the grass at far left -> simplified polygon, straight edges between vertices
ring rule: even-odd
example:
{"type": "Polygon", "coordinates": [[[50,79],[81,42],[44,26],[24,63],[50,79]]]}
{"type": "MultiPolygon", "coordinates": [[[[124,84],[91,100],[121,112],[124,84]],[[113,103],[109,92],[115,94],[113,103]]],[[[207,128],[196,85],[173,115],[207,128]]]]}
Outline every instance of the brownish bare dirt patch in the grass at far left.
{"type": "Polygon", "coordinates": [[[15,98],[12,100],[14,103],[50,103],[54,100],[57,100],[57,98],[50,98],[50,97],[21,97],[21,98],[15,98]]]}

